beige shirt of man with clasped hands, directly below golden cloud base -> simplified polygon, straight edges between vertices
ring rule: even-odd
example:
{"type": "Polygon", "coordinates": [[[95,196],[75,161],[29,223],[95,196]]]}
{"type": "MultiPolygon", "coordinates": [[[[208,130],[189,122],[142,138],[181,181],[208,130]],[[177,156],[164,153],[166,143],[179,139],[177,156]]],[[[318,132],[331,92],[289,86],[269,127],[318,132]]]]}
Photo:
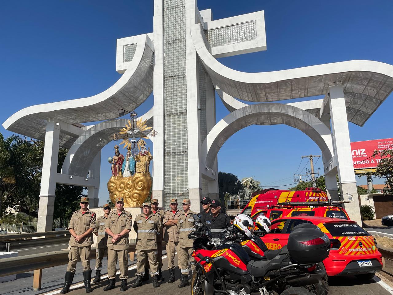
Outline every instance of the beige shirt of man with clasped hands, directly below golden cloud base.
{"type": "MultiPolygon", "coordinates": [[[[110,229],[114,234],[119,234],[125,229],[131,230],[132,215],[125,211],[118,215],[117,210],[113,210],[108,214],[107,221],[105,221],[105,229],[110,229]]],[[[128,233],[120,238],[116,243],[112,243],[112,237],[108,236],[108,249],[126,250],[129,247],[128,233]]]]}

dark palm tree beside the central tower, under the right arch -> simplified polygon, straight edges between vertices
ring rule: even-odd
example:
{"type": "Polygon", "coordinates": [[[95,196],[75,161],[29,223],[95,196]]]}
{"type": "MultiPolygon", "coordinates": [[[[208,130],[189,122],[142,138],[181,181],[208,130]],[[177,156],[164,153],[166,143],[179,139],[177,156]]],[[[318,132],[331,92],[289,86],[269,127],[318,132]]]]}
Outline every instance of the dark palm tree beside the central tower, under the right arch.
{"type": "Polygon", "coordinates": [[[243,184],[235,174],[219,172],[219,197],[222,212],[226,211],[226,201],[230,196],[239,194],[243,188],[243,184]]]}

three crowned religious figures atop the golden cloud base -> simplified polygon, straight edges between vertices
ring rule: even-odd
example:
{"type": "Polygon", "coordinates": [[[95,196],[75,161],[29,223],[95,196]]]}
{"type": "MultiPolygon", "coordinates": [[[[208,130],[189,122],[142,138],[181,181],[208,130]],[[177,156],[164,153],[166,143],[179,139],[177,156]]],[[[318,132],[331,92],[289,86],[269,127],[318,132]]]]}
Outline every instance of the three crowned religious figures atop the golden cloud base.
{"type": "Polygon", "coordinates": [[[112,164],[112,176],[130,177],[135,173],[149,172],[150,161],[153,159],[150,148],[146,149],[144,140],[140,140],[138,144],[140,145],[139,153],[133,156],[129,146],[127,147],[126,157],[119,152],[119,146],[115,146],[115,156],[109,161],[112,164]]]}

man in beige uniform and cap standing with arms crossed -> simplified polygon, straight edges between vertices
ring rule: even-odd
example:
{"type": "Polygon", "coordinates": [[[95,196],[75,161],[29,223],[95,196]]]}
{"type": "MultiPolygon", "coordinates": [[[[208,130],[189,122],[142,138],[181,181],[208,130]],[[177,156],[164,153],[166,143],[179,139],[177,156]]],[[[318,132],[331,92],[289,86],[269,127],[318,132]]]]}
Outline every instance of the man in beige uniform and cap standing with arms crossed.
{"type": "Polygon", "coordinates": [[[173,283],[176,279],[174,277],[174,253],[179,243],[179,234],[177,232],[177,221],[179,216],[183,213],[182,210],[177,208],[177,199],[171,199],[169,206],[171,209],[165,211],[164,225],[165,234],[164,240],[167,241],[167,256],[168,256],[168,269],[169,279],[168,283],[173,283]]]}

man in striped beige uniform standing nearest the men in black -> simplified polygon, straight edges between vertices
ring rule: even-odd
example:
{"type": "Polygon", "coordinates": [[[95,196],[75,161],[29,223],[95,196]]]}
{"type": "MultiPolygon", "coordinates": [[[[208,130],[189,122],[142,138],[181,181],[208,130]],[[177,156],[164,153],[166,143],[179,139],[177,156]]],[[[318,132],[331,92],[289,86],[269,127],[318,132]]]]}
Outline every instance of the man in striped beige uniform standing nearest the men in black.
{"type": "Polygon", "coordinates": [[[188,234],[195,230],[195,212],[190,210],[190,199],[183,199],[182,205],[184,212],[179,216],[177,222],[177,232],[179,233],[179,245],[177,248],[177,258],[179,260],[179,268],[182,272],[180,278],[179,288],[188,286],[189,265],[188,260],[194,261],[194,258],[189,258],[189,254],[193,253],[193,242],[188,238],[188,234]]]}

